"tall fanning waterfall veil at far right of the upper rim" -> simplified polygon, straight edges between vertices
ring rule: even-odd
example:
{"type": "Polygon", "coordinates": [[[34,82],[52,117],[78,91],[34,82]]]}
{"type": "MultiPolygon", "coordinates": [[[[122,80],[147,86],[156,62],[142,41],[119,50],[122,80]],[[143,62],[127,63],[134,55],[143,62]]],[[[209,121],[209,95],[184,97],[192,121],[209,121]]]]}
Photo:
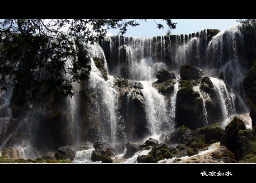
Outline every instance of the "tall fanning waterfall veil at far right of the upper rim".
{"type": "MultiPolygon", "coordinates": [[[[223,80],[237,92],[243,101],[247,101],[247,98],[242,80],[249,71],[246,53],[245,39],[240,24],[220,31],[209,42],[206,49],[209,69],[219,70],[223,74],[223,80]]],[[[248,108],[244,112],[247,110],[248,108]]]]}

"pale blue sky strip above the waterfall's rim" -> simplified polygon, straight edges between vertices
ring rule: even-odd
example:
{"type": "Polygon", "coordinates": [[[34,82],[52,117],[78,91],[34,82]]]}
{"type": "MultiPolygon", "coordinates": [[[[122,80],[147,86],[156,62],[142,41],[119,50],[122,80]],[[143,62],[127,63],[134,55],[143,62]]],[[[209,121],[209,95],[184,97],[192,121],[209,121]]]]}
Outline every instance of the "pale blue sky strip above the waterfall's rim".
{"type": "MultiPolygon", "coordinates": [[[[168,26],[162,19],[147,19],[147,22],[137,19],[140,26],[128,27],[128,31],[124,36],[127,37],[151,37],[151,36],[164,36],[168,26]],[[156,24],[161,23],[165,27],[159,30],[156,24]]],[[[172,19],[172,22],[177,23],[176,29],[171,30],[171,34],[190,34],[204,29],[219,29],[220,31],[226,30],[228,27],[238,24],[238,19],[172,19]]],[[[118,30],[109,30],[112,35],[118,35],[118,30]]]]}

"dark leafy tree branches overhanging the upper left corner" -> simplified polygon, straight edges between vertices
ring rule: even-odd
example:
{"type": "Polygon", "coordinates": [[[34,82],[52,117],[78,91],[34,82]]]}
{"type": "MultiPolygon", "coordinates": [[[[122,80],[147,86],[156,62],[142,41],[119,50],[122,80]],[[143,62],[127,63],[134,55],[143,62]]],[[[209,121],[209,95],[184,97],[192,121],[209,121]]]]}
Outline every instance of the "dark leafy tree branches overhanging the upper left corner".
{"type": "MultiPolygon", "coordinates": [[[[146,21],[146,20],[142,20],[146,21]]],[[[166,21],[175,29],[176,23],[166,21]]],[[[0,21],[0,84],[12,89],[17,103],[54,94],[73,95],[73,83],[87,80],[90,67],[85,44],[103,39],[109,28],[123,35],[136,20],[122,19],[5,19],[0,21]],[[67,32],[61,31],[68,27],[67,32]]],[[[163,28],[156,23],[157,28],[163,28]]]]}

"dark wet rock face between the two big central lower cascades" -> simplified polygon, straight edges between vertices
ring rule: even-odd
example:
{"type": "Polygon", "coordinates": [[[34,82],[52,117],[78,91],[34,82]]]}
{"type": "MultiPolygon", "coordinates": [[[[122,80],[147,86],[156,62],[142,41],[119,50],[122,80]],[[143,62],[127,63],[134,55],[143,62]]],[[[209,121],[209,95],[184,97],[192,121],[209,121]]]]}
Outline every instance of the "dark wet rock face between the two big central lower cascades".
{"type": "MultiPolygon", "coordinates": [[[[140,82],[114,76],[117,91],[118,112],[123,119],[122,125],[126,127],[125,134],[128,141],[144,138],[148,132],[143,86],[140,82]]],[[[120,134],[120,139],[123,138],[120,134]]]]}

